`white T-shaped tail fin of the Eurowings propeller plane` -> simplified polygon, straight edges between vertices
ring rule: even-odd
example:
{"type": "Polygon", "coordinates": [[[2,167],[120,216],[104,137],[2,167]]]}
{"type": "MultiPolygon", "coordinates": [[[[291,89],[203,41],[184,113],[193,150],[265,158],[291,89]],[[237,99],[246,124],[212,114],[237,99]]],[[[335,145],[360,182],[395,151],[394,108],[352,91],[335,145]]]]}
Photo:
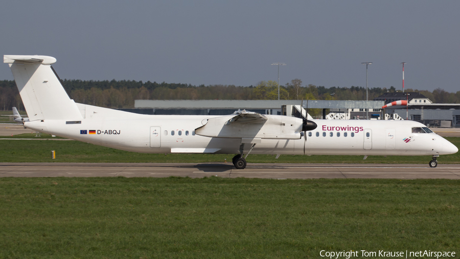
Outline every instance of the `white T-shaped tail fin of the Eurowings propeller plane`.
{"type": "Polygon", "coordinates": [[[68,97],[51,67],[56,58],[37,55],[4,55],[30,121],[81,120],[77,104],[68,97]]]}

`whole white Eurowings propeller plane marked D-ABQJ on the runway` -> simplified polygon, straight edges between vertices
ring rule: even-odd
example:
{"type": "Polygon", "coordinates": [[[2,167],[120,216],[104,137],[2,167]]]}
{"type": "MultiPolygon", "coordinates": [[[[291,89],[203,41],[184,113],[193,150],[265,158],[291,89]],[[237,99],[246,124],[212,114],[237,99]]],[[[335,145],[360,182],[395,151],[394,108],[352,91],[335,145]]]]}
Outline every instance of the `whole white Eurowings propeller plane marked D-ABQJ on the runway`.
{"type": "Polygon", "coordinates": [[[56,58],[4,55],[29,121],[26,128],[138,153],[236,154],[246,167],[249,154],[432,156],[458,148],[416,121],[316,120],[302,116],[143,115],[76,103],[51,67],[56,58]]]}

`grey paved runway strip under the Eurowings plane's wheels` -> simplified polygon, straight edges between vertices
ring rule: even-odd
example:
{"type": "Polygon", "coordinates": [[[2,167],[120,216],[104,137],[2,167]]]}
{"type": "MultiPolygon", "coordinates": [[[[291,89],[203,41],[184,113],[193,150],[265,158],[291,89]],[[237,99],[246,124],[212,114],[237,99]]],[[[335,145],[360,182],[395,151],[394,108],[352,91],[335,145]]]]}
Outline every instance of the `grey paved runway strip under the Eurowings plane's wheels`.
{"type": "Polygon", "coordinates": [[[0,163],[0,177],[460,179],[460,164],[0,163]]]}

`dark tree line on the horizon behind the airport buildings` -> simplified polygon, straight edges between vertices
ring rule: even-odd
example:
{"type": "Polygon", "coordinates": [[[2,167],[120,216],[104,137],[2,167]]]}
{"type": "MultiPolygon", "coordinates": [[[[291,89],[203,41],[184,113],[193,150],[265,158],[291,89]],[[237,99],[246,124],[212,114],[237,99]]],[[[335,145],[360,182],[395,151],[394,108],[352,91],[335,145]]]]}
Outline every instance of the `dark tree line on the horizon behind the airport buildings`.
{"type": "MultiPolygon", "coordinates": [[[[61,81],[67,94],[75,102],[108,107],[133,108],[134,100],[277,100],[278,83],[260,81],[249,87],[235,85],[191,85],[183,83],[157,83],[131,80],[68,80],[61,81]]],[[[331,87],[304,85],[301,79],[293,79],[280,86],[281,100],[365,100],[363,87],[331,87]]],[[[394,87],[369,88],[369,100],[386,92],[396,92],[394,87]]],[[[420,92],[436,103],[460,103],[460,91],[449,93],[441,88],[432,92],[406,89],[406,92],[420,92]]],[[[0,81],[0,110],[11,111],[16,106],[24,110],[16,83],[13,80],[0,81]]]]}

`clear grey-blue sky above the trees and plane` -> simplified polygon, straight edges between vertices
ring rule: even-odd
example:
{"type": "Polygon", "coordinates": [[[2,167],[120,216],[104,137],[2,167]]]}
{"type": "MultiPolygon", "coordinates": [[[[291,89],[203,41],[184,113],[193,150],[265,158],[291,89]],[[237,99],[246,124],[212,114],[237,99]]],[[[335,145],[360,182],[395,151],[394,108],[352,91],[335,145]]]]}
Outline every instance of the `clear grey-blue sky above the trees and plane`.
{"type": "MultiPolygon", "coordinates": [[[[2,1],[2,54],[64,79],[460,91],[460,1],[2,1]]],[[[0,80],[12,80],[7,64],[0,80]]]]}

